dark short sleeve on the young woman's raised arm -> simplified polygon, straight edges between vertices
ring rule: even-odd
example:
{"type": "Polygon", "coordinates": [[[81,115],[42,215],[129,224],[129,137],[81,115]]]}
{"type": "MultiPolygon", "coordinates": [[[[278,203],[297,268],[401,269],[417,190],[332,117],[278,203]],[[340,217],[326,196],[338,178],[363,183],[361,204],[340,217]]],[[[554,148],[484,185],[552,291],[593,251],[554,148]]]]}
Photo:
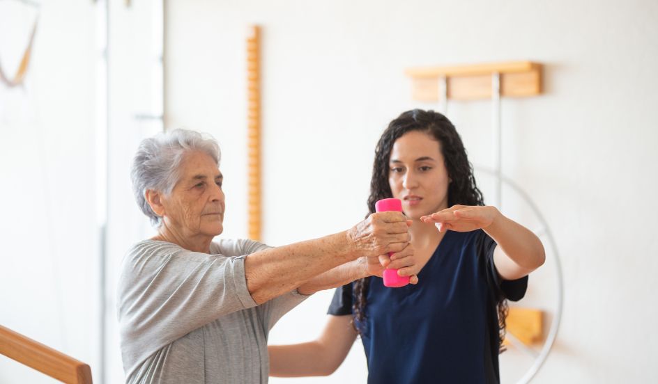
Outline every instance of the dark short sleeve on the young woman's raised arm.
{"type": "Polygon", "coordinates": [[[517,280],[503,280],[498,275],[496,264],[494,264],[494,249],[496,249],[496,241],[480,230],[477,234],[477,249],[478,254],[483,257],[485,268],[487,270],[487,282],[489,288],[496,293],[498,301],[507,298],[510,301],[519,301],[523,296],[526,296],[528,289],[528,276],[517,280]]]}

